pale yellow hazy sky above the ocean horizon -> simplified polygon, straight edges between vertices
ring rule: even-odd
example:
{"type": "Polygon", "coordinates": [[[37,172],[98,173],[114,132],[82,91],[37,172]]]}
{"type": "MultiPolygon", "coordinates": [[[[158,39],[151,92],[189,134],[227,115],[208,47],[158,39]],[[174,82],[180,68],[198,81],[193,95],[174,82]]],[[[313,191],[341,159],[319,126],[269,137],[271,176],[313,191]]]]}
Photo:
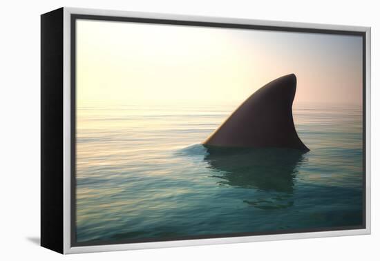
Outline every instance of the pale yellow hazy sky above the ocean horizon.
{"type": "Polygon", "coordinates": [[[77,20],[77,105],[240,104],[294,73],[294,104],[362,101],[359,36],[77,20]]]}

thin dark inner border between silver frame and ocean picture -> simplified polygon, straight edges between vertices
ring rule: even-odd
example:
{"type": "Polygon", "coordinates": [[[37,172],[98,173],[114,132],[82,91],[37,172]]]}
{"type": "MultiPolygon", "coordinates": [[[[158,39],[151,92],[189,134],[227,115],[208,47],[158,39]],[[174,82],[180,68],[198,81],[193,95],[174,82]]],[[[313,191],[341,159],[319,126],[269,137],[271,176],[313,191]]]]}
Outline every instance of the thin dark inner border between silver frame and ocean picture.
{"type": "MultiPolygon", "coordinates": [[[[278,22],[281,23],[281,22],[278,22]]],[[[312,24],[310,25],[312,26],[312,24]]],[[[281,235],[290,233],[310,233],[310,232],[323,232],[323,231],[343,231],[354,229],[366,229],[366,32],[354,31],[354,30],[332,30],[332,29],[316,29],[316,28],[299,28],[289,26],[260,26],[245,23],[220,23],[220,22],[208,22],[208,21],[184,21],[175,19],[152,19],[152,18],[139,18],[139,17],[117,17],[117,16],[104,16],[93,14],[70,14],[70,124],[71,124],[71,137],[70,137],[70,247],[86,247],[86,246],[99,246],[108,244],[131,244],[131,243],[143,243],[143,242],[167,242],[178,240],[202,240],[212,238],[235,238],[243,236],[254,235],[281,235]],[[352,35],[360,36],[363,39],[362,47],[362,59],[363,59],[363,92],[362,92],[362,122],[363,122],[363,177],[362,177],[362,198],[363,198],[363,224],[361,226],[339,226],[339,227],[326,227],[318,229],[284,229],[281,231],[267,231],[267,232],[247,232],[247,233],[228,233],[228,234],[215,234],[215,235],[193,235],[176,238],[140,238],[136,240],[96,240],[89,242],[77,242],[76,238],[76,216],[77,216],[77,198],[76,198],[76,21],[77,19],[95,20],[95,21],[122,21],[133,23],[153,23],[153,24],[165,24],[174,26],[200,26],[211,28],[231,28],[231,29],[250,29],[250,30],[265,30],[274,32],[305,32],[305,33],[319,33],[327,35],[352,35]]]]}

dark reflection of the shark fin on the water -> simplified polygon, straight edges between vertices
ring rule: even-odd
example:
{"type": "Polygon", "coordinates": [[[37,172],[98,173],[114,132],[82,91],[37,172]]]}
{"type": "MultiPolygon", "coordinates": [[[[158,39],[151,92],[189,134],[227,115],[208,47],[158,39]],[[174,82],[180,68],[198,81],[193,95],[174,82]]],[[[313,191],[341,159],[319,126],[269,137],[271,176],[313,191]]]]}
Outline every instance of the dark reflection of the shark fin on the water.
{"type": "Polygon", "coordinates": [[[303,152],[287,148],[207,148],[205,162],[218,171],[218,184],[254,189],[253,199],[243,199],[259,209],[292,206],[294,177],[303,152]]]}

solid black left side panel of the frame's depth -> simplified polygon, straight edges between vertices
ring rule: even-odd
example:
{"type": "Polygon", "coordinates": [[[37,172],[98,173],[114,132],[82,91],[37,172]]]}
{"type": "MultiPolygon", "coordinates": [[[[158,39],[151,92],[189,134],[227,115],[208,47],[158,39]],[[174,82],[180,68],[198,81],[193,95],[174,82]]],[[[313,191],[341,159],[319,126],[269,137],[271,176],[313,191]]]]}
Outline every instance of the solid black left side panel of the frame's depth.
{"type": "Polygon", "coordinates": [[[64,253],[64,8],[40,19],[41,247],[64,253]]]}

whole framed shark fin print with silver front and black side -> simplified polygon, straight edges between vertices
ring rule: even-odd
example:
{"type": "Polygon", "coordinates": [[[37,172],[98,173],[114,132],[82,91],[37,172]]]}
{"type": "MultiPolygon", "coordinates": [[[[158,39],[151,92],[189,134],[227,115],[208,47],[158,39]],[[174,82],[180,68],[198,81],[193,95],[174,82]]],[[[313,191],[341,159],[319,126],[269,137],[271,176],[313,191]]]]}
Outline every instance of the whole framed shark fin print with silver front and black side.
{"type": "Polygon", "coordinates": [[[370,28],[41,15],[41,245],[370,233],[370,28]]]}

